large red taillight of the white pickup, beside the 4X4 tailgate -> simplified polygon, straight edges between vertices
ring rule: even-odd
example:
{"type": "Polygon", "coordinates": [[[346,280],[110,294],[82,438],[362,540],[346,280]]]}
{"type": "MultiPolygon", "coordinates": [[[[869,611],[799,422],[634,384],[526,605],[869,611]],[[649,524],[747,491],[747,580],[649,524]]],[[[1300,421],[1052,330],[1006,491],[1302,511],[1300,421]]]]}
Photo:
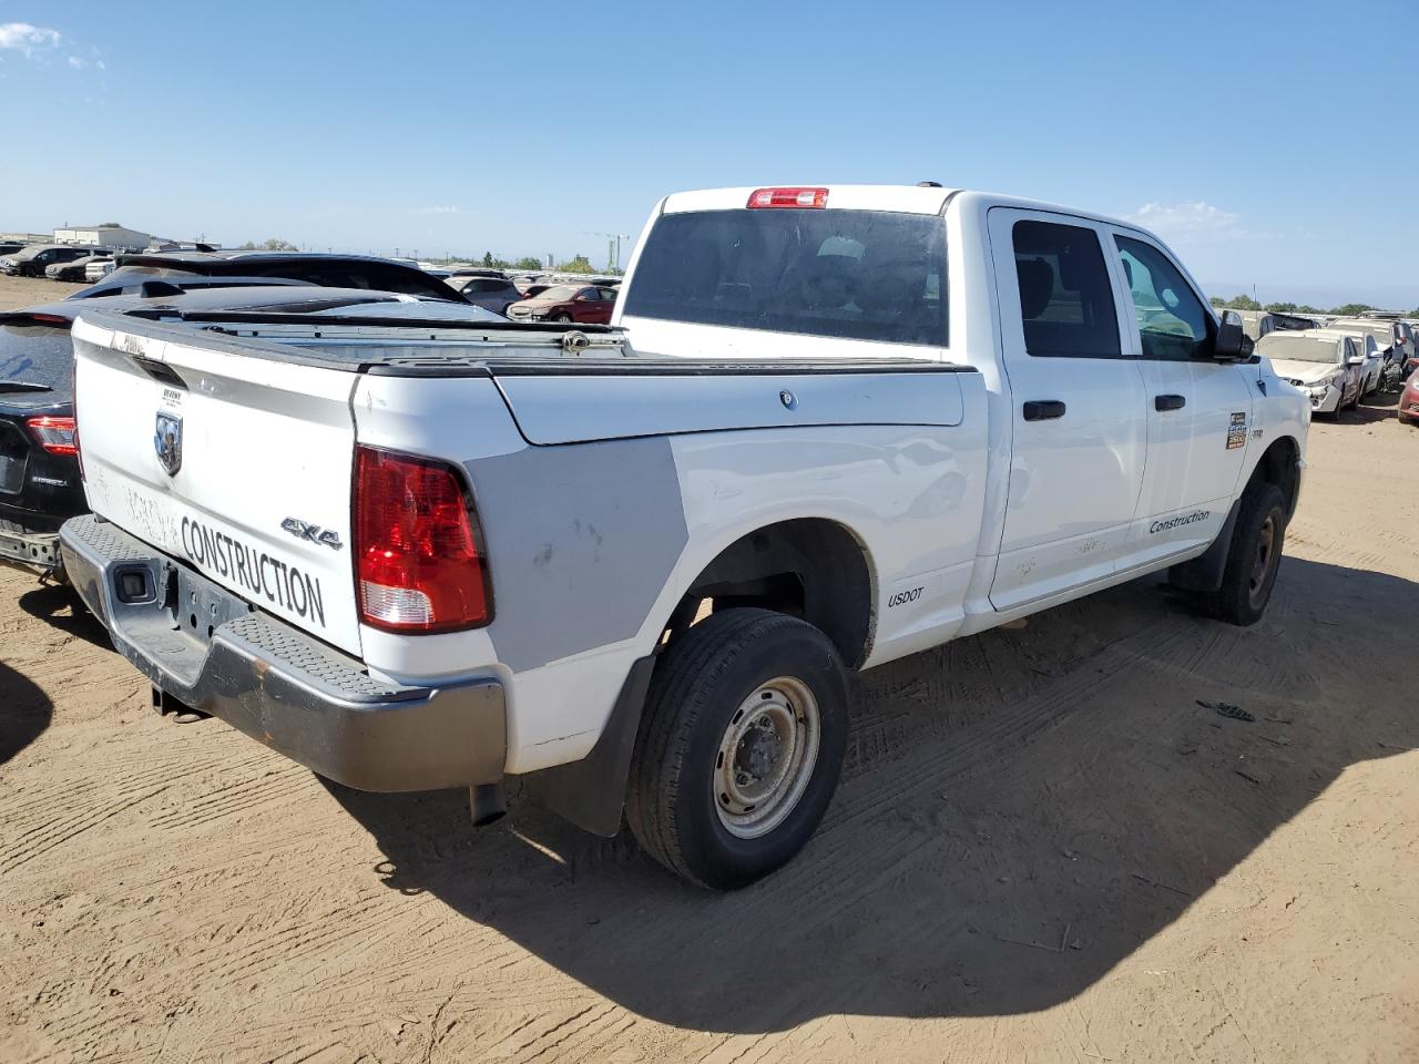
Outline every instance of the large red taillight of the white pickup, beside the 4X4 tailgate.
{"type": "Polygon", "coordinates": [[[355,550],[366,624],[454,631],[491,619],[473,508],[453,467],[359,447],[355,550]]]}

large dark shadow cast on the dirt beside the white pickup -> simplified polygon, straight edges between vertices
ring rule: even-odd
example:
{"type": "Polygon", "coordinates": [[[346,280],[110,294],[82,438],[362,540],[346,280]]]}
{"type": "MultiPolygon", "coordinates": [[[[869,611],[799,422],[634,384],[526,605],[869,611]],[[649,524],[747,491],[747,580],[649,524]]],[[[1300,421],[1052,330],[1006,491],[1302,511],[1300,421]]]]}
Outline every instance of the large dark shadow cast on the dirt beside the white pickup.
{"type": "Polygon", "coordinates": [[[1033,1012],[1166,928],[1348,766],[1419,745],[1398,670],[1357,664],[1408,645],[1416,592],[1287,558],[1253,628],[1130,584],[873,670],[817,837],[732,895],[526,802],[474,833],[461,794],[329,787],[392,890],[663,1023],[1033,1012]]]}

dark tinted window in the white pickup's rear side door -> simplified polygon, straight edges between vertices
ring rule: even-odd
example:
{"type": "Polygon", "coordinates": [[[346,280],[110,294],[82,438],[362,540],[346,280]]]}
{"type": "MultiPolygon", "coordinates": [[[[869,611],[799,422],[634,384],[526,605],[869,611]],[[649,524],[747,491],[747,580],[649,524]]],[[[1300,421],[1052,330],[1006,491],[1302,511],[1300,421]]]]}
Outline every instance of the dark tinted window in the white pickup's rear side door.
{"type": "Polygon", "coordinates": [[[1010,235],[1026,352],[1121,358],[1118,316],[1098,234],[1083,226],[1017,221],[1010,235]]]}

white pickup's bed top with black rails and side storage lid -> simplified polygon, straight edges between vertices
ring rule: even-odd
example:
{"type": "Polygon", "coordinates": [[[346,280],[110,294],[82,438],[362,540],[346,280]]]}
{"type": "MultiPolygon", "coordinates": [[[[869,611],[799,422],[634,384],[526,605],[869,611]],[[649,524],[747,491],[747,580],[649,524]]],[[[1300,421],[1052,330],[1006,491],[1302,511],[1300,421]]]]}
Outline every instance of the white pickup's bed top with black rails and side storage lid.
{"type": "Polygon", "coordinates": [[[955,375],[927,359],[678,359],[637,352],[622,329],[446,321],[314,321],[275,314],[88,312],[75,338],[149,362],[177,348],[341,373],[485,377],[532,444],[834,424],[956,426],[955,375]],[[170,345],[176,345],[172,346],[170,345]],[[917,383],[902,375],[921,377],[917,383]]]}

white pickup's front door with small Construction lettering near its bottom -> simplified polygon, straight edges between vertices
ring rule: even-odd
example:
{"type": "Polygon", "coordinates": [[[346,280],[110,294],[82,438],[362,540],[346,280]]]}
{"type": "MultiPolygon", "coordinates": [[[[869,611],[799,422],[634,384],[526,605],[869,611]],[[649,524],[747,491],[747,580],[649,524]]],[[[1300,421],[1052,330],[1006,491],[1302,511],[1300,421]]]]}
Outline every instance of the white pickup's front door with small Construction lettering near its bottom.
{"type": "Polygon", "coordinates": [[[1145,384],[1148,470],[1127,560],[1135,566],[1216,538],[1246,464],[1253,384],[1242,366],[1210,358],[1216,318],[1182,267],[1147,234],[1110,228],[1127,348],[1145,384]]]}

